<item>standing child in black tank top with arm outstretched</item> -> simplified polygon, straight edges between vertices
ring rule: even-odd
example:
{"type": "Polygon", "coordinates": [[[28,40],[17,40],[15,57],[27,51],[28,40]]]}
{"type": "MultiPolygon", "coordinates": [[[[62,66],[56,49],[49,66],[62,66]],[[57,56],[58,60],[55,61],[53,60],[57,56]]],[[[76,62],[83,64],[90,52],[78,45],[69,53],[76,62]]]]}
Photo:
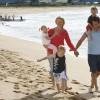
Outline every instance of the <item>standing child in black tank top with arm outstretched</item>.
{"type": "Polygon", "coordinates": [[[60,89],[62,90],[62,93],[64,93],[65,82],[67,80],[65,51],[66,51],[65,47],[60,45],[58,47],[57,53],[37,60],[38,62],[41,62],[42,60],[53,58],[53,75],[56,81],[56,87],[57,87],[58,93],[60,92],[60,89]],[[61,88],[60,88],[60,82],[61,82],[61,88]]]}

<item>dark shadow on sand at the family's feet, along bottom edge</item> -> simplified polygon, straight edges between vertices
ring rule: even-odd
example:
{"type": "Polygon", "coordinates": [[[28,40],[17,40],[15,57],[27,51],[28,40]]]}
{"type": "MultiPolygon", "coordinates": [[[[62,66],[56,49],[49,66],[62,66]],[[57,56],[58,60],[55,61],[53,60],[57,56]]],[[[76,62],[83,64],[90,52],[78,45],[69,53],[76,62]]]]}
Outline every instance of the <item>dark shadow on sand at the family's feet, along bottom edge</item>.
{"type": "Polygon", "coordinates": [[[34,92],[33,94],[30,94],[26,97],[23,97],[21,99],[16,99],[16,100],[90,100],[92,98],[95,98],[96,100],[100,99],[94,93],[81,93],[78,95],[69,95],[68,93],[66,93],[60,96],[54,91],[51,94],[49,93],[44,94],[46,91],[50,90],[50,88],[51,87],[46,88],[44,90],[38,90],[37,92],[34,92]]]}

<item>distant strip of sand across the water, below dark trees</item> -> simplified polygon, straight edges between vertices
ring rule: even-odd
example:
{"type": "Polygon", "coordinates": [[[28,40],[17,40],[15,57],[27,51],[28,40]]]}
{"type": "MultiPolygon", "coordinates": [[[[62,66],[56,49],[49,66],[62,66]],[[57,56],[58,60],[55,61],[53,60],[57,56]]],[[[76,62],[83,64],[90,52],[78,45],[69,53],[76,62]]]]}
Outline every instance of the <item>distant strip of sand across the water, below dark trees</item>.
{"type": "MultiPolygon", "coordinates": [[[[66,10],[77,11],[78,7],[0,7],[0,15],[20,15],[20,14],[33,14],[42,12],[55,12],[55,11],[66,11],[66,10]],[[45,9],[46,8],[46,9],[45,9]],[[24,10],[23,10],[24,9],[24,10]],[[3,12],[3,10],[5,12],[3,12]]],[[[80,7],[80,9],[90,9],[89,7],[80,7]]]]}

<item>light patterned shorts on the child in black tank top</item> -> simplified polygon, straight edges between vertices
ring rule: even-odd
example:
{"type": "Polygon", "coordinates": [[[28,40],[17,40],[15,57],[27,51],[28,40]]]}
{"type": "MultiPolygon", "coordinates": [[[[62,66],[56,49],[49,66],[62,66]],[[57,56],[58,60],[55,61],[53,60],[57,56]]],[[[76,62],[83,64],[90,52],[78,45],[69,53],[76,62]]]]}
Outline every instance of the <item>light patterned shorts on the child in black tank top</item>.
{"type": "Polygon", "coordinates": [[[56,84],[59,84],[62,79],[67,80],[67,75],[65,71],[62,71],[61,73],[53,73],[53,76],[55,78],[56,84]]]}

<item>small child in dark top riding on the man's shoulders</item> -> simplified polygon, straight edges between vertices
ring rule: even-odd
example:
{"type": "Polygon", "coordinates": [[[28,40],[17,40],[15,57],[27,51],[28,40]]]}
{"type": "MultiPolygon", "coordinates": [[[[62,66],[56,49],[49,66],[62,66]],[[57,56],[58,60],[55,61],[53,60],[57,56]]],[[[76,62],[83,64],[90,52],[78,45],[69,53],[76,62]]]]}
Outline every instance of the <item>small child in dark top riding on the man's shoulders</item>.
{"type": "Polygon", "coordinates": [[[97,13],[98,13],[98,8],[96,6],[92,6],[91,7],[91,15],[88,17],[88,25],[86,27],[86,30],[87,30],[87,35],[88,35],[88,40],[91,41],[92,40],[92,37],[91,37],[91,31],[93,29],[92,27],[92,19],[93,17],[96,17],[97,16],[97,13]]]}

